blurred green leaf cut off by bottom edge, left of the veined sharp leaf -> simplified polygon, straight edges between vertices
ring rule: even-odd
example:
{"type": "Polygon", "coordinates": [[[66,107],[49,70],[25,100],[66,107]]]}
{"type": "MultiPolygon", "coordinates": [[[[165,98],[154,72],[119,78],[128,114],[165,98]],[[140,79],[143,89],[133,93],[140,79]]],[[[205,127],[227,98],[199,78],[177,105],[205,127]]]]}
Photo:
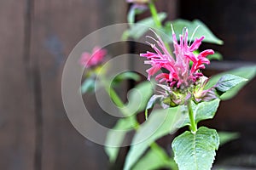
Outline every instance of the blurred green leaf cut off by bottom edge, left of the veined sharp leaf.
{"type": "Polygon", "coordinates": [[[170,167],[172,170],[177,169],[175,161],[166,155],[166,151],[159,146],[154,149],[148,150],[145,156],[143,156],[132,170],[154,170],[164,167],[170,167]]]}

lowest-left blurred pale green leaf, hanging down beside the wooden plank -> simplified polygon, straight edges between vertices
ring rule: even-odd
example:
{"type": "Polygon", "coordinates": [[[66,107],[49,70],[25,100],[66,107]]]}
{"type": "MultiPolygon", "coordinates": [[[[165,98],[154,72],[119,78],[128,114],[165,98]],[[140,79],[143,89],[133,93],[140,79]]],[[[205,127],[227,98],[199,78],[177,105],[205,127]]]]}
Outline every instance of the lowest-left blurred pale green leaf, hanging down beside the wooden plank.
{"type": "Polygon", "coordinates": [[[108,131],[105,141],[105,151],[108,155],[109,161],[113,163],[119,154],[119,147],[125,139],[125,134],[137,126],[135,116],[119,119],[116,125],[108,131]]]}

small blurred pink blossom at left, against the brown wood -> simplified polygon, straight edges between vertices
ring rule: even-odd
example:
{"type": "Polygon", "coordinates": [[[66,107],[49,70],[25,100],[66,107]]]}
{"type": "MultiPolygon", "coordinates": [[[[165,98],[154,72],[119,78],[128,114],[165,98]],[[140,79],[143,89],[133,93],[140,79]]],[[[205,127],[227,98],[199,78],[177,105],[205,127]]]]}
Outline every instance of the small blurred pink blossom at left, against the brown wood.
{"type": "Polygon", "coordinates": [[[92,49],[92,53],[84,52],[80,59],[80,64],[85,68],[90,68],[95,65],[99,65],[107,54],[107,50],[95,47],[92,49]]]}

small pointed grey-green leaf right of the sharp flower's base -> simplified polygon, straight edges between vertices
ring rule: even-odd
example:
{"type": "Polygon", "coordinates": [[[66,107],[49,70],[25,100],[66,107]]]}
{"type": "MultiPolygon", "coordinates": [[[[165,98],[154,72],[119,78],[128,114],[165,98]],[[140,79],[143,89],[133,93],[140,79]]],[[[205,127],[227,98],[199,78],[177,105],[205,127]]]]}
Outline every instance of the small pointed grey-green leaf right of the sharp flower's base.
{"type": "Polygon", "coordinates": [[[235,75],[226,74],[219,79],[215,88],[218,90],[218,93],[224,94],[226,91],[234,88],[237,84],[245,82],[247,79],[243,77],[237,77],[235,75]]]}

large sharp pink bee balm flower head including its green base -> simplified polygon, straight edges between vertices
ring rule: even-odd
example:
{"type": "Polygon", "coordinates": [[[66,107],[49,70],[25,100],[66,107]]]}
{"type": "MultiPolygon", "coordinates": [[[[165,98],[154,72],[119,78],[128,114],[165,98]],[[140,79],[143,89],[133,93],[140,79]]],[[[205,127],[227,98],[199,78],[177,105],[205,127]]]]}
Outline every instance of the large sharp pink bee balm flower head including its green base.
{"type": "MultiPolygon", "coordinates": [[[[198,87],[201,87],[200,77],[203,77],[201,69],[205,69],[205,64],[210,64],[209,59],[206,57],[209,54],[214,54],[214,51],[212,49],[207,49],[198,55],[193,53],[200,47],[204,37],[195,38],[195,41],[190,45],[188,44],[188,29],[184,28],[183,35],[180,35],[178,43],[176,35],[172,29],[174,57],[169,53],[160,36],[155,32],[154,34],[157,39],[148,37],[155,42],[148,42],[154,49],[154,53],[147,52],[146,54],[140,54],[142,57],[148,59],[144,63],[151,65],[151,68],[147,70],[148,80],[150,80],[150,77],[154,76],[158,71],[164,70],[164,72],[159,73],[155,79],[160,83],[166,82],[166,88],[164,89],[169,89],[166,90],[167,96],[170,98],[167,100],[170,100],[172,105],[183,105],[193,94],[197,94],[197,97],[200,96],[201,99],[206,97],[206,91],[203,91],[204,93],[201,91],[201,94],[199,94],[195,92],[195,87],[197,87],[197,89],[199,89],[198,87]],[[189,66],[189,62],[192,62],[191,66],[189,66]]],[[[161,88],[163,88],[163,85],[161,85],[161,88]]],[[[201,101],[201,99],[196,99],[195,101],[201,101]]]]}

